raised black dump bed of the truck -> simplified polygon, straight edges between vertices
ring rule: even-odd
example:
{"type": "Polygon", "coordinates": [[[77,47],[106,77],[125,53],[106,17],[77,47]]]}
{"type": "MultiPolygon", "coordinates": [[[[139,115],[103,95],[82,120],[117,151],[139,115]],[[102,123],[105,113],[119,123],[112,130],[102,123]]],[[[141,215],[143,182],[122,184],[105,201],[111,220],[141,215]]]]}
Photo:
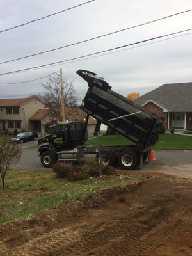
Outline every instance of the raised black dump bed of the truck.
{"type": "Polygon", "coordinates": [[[136,143],[138,150],[154,146],[163,118],[114,92],[95,73],[78,70],[77,74],[88,82],[88,91],[80,107],[83,111],[136,143]]]}

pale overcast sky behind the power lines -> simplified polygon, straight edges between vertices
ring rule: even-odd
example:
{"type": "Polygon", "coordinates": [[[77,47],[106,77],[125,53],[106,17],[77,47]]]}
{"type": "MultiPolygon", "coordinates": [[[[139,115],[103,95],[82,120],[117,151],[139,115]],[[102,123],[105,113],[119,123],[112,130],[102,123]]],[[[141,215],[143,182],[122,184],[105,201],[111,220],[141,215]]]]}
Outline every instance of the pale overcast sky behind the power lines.
{"type": "MultiPolygon", "coordinates": [[[[86,2],[88,0],[0,0],[0,31],[86,2]]],[[[95,0],[0,33],[0,62],[74,44],[190,9],[191,0],[95,0]]],[[[4,63],[0,65],[0,74],[77,58],[191,28],[192,12],[186,12],[83,44],[4,63]]],[[[143,95],[164,83],[191,82],[192,30],[175,36],[178,35],[183,36],[168,36],[100,56],[97,54],[92,58],[0,76],[0,98],[41,93],[42,83],[47,78],[13,85],[3,83],[38,79],[58,72],[60,68],[68,81],[74,81],[76,93],[82,98],[87,84],[76,74],[79,69],[104,77],[112,90],[124,96],[130,92],[143,95]],[[184,35],[186,33],[189,35],[184,35]]]]}

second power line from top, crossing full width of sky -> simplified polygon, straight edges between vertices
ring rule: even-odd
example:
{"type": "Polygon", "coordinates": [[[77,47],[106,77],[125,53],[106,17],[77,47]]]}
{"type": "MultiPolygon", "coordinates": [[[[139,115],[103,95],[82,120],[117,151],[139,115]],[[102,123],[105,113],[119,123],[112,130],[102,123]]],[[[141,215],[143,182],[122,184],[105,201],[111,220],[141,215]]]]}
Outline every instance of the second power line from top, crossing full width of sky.
{"type": "Polygon", "coordinates": [[[175,16],[175,15],[179,15],[179,14],[186,13],[186,12],[191,12],[191,10],[192,10],[192,9],[186,10],[186,11],[184,11],[184,12],[174,13],[174,14],[168,15],[168,16],[166,16],[166,17],[162,17],[162,18],[159,18],[159,19],[156,19],[156,20],[151,20],[151,21],[148,21],[148,22],[145,22],[145,23],[141,23],[141,24],[138,24],[138,25],[135,25],[135,26],[131,26],[131,27],[129,27],[129,28],[124,28],[124,29],[120,29],[120,30],[117,30],[117,31],[113,31],[113,32],[111,32],[111,33],[107,33],[107,34],[104,34],[104,35],[95,36],[95,37],[89,38],[89,39],[87,39],[87,40],[83,40],[83,41],[76,42],[76,43],[73,43],[73,44],[64,45],[64,46],[57,47],[57,48],[54,48],[54,49],[51,49],[51,50],[47,50],[47,51],[43,51],[43,52],[38,52],[38,53],[35,53],[35,54],[31,54],[31,55],[28,55],[28,56],[16,58],[16,59],[13,59],[13,60],[3,61],[3,62],[0,63],[0,65],[1,65],[1,64],[4,64],[4,63],[8,63],[8,62],[12,62],[12,61],[17,61],[17,60],[22,60],[22,59],[29,58],[29,57],[32,57],[32,56],[44,54],[44,53],[47,53],[47,52],[56,51],[56,50],[63,49],[63,48],[66,48],[66,47],[70,47],[70,46],[73,46],[73,45],[82,44],[82,43],[84,43],[84,42],[88,42],[88,41],[91,41],[91,40],[95,40],[95,39],[98,39],[98,38],[102,38],[102,37],[104,37],[104,36],[113,35],[113,34],[115,34],[115,33],[119,33],[119,32],[125,31],[125,30],[127,30],[127,29],[137,28],[137,27],[140,27],[140,26],[144,26],[144,25],[150,24],[150,23],[152,23],[152,22],[157,22],[157,21],[159,21],[159,20],[168,19],[168,18],[173,17],[173,16],[175,16]]]}

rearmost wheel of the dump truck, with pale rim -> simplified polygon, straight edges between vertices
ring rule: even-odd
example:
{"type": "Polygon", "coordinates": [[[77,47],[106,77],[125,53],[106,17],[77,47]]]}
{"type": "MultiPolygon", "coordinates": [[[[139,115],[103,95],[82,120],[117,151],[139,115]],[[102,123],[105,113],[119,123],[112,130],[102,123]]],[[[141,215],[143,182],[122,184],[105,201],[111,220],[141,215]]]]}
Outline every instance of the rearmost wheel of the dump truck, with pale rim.
{"type": "Polygon", "coordinates": [[[118,155],[118,165],[123,170],[134,170],[138,165],[138,156],[132,150],[125,150],[118,155]]]}

